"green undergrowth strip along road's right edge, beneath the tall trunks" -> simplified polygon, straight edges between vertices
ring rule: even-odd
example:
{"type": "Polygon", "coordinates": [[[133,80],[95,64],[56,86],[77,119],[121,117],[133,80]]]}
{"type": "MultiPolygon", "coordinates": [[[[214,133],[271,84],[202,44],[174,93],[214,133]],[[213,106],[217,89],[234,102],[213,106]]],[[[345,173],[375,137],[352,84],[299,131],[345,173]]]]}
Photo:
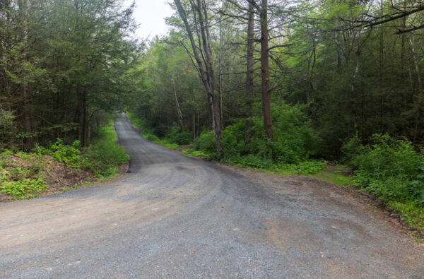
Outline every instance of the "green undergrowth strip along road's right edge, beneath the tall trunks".
{"type": "Polygon", "coordinates": [[[326,162],[310,159],[317,152],[318,138],[310,129],[302,107],[282,104],[274,106],[273,110],[279,115],[274,122],[275,141],[266,141],[263,122],[259,117],[251,119],[252,128],[248,131],[247,139],[245,119],[240,119],[223,130],[223,158],[220,159],[216,156],[215,137],[211,130],[202,131],[189,145],[192,142],[191,133],[181,131],[178,126],[172,126],[163,138],[159,138],[135,114],[128,112],[127,115],[144,138],[167,148],[179,148],[185,155],[281,174],[314,174],[326,167],[326,162]]]}

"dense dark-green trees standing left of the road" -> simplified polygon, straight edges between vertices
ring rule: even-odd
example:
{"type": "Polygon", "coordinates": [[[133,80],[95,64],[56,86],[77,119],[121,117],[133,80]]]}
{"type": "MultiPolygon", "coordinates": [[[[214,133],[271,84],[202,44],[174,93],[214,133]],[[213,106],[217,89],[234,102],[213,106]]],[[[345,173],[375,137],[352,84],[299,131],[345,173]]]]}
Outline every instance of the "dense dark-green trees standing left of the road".
{"type": "Polygon", "coordinates": [[[87,145],[129,92],[131,13],[122,1],[0,1],[0,148],[87,145]]]}

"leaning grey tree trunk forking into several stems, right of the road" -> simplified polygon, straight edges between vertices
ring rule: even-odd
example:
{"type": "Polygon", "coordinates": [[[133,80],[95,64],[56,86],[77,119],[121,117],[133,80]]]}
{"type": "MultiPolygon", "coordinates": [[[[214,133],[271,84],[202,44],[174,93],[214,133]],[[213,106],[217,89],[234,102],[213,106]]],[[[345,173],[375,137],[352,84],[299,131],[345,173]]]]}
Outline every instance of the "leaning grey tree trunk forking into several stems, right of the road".
{"type": "Polygon", "coordinates": [[[216,96],[216,82],[215,82],[215,73],[213,71],[213,61],[211,55],[211,44],[210,44],[210,36],[209,36],[209,25],[208,25],[208,11],[206,10],[205,1],[197,0],[194,3],[194,0],[191,1],[193,7],[194,14],[194,25],[199,34],[199,45],[196,45],[194,42],[194,36],[192,32],[192,28],[189,25],[187,20],[186,12],[182,7],[180,0],[174,0],[175,6],[177,6],[177,10],[179,16],[184,22],[184,27],[189,35],[190,44],[192,45],[192,57],[196,60],[194,66],[199,73],[199,77],[204,85],[206,95],[208,97],[209,110],[211,112],[212,117],[212,127],[213,133],[215,135],[216,140],[216,154],[218,158],[221,157],[221,124],[220,124],[220,108],[219,108],[219,100],[216,96]],[[200,32],[199,32],[200,30],[200,32]],[[201,57],[199,55],[199,51],[201,52],[201,57]]]}

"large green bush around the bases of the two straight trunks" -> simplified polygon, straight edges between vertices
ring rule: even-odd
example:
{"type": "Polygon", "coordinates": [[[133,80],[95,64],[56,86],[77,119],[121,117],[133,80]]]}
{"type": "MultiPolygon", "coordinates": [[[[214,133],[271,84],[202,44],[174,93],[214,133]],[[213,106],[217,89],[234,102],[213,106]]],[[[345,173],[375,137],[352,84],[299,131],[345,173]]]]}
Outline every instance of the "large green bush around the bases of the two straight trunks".
{"type": "Polygon", "coordinates": [[[245,119],[240,119],[223,131],[224,160],[254,155],[257,159],[271,160],[278,165],[301,162],[317,153],[319,138],[310,128],[310,122],[302,112],[303,107],[290,107],[281,102],[273,105],[272,109],[274,141],[266,141],[261,117],[252,117],[252,127],[247,133],[245,119]]]}

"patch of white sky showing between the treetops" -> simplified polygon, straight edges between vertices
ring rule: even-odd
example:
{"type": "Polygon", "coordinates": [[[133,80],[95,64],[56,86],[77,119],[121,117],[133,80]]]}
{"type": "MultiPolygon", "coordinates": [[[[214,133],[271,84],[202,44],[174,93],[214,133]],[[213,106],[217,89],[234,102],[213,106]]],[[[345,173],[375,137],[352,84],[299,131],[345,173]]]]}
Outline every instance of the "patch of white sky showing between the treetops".
{"type": "MultiPolygon", "coordinates": [[[[133,0],[125,0],[126,6],[129,6],[133,0]]],[[[155,35],[165,35],[167,25],[165,18],[171,16],[172,8],[167,4],[170,0],[135,0],[134,18],[139,23],[139,29],[136,32],[137,37],[151,39],[155,35]]]]}

